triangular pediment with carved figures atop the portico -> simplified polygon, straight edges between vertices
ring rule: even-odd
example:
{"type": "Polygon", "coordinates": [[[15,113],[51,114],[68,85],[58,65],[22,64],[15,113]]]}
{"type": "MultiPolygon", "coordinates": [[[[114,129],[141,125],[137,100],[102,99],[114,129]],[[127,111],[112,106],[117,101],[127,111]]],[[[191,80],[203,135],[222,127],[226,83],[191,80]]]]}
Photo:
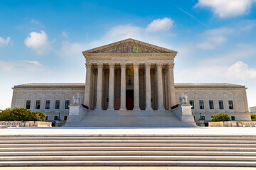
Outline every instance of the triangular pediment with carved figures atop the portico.
{"type": "Polygon", "coordinates": [[[109,45],[103,45],[101,47],[96,47],[91,50],[86,50],[82,52],[82,54],[84,55],[97,53],[169,53],[172,55],[177,54],[177,52],[174,50],[169,50],[164,47],[151,45],[149,43],[134,40],[132,38],[114,42],[109,45]]]}

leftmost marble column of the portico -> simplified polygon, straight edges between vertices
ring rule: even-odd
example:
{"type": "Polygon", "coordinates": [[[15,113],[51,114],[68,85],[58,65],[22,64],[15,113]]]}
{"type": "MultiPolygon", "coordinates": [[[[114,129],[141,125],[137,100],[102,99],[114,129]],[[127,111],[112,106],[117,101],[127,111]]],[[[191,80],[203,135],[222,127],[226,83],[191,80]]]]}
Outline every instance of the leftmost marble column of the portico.
{"type": "Polygon", "coordinates": [[[85,77],[85,106],[90,107],[90,84],[91,84],[91,63],[85,63],[86,67],[86,77],[85,77]]]}

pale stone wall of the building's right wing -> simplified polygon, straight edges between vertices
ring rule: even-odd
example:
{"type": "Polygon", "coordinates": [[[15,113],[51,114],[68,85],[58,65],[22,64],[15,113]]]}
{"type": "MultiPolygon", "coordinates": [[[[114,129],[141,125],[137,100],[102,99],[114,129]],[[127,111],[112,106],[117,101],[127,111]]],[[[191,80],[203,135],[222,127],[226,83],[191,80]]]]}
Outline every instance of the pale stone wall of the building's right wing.
{"type": "Polygon", "coordinates": [[[194,101],[192,114],[198,120],[201,113],[206,121],[217,113],[227,113],[230,117],[235,116],[235,120],[251,120],[247,106],[246,89],[244,86],[176,86],[176,103],[178,96],[184,93],[188,96],[188,101],[194,101]],[[204,109],[199,108],[199,101],[203,101],[204,109]],[[209,101],[213,101],[214,109],[210,109],[209,101]],[[218,101],[223,101],[224,109],[219,108],[218,101]],[[233,101],[233,109],[229,109],[228,101],[233,101]]]}

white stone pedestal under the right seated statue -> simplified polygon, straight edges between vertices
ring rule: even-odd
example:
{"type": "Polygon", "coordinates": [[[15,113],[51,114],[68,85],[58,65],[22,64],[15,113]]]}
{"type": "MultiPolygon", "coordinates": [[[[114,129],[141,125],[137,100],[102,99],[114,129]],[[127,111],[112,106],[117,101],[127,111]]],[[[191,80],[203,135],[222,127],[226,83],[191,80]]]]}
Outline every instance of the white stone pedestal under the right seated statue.
{"type": "Polygon", "coordinates": [[[179,120],[181,120],[181,122],[195,123],[191,108],[192,106],[190,104],[181,104],[172,111],[176,114],[179,120]]]}

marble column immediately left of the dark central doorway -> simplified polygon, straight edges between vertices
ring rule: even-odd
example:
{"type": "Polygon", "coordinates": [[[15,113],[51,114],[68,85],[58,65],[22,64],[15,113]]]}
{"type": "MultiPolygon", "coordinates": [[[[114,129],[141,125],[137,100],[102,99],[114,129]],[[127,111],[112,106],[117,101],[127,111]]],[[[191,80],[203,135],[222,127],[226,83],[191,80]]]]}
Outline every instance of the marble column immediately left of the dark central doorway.
{"type": "Polygon", "coordinates": [[[126,63],[121,63],[121,95],[120,95],[120,111],[126,111],[126,63]]]}

